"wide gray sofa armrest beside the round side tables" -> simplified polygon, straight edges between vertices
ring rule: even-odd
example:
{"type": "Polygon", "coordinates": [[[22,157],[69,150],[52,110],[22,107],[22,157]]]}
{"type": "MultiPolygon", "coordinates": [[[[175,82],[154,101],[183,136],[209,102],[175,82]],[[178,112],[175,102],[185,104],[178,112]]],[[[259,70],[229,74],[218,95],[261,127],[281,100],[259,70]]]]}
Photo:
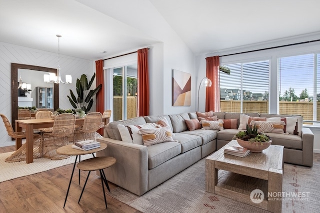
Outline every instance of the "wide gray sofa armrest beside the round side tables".
{"type": "Polygon", "coordinates": [[[148,153],[146,146],[110,138],[97,138],[107,148],[97,156],[110,156],[116,163],[105,171],[106,179],[138,196],[147,191],[148,153]]]}

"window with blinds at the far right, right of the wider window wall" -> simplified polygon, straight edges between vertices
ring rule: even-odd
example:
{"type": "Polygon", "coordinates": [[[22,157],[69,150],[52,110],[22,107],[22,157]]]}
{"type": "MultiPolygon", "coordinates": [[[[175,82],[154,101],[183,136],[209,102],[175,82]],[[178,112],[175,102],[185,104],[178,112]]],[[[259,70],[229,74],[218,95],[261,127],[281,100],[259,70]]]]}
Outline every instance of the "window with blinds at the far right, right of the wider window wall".
{"type": "Polygon", "coordinates": [[[320,54],[278,58],[279,113],[320,120],[320,54]]]}

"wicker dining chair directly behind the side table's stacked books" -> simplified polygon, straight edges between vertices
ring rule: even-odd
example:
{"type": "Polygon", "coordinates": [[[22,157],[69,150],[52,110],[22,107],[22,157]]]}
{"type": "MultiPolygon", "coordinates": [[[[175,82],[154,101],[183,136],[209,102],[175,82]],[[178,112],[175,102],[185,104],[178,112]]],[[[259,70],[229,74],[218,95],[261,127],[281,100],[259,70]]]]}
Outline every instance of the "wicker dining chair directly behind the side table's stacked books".
{"type": "Polygon", "coordinates": [[[96,131],[101,128],[102,114],[90,112],[84,117],[83,125],[74,130],[74,142],[96,140],[96,131]]]}

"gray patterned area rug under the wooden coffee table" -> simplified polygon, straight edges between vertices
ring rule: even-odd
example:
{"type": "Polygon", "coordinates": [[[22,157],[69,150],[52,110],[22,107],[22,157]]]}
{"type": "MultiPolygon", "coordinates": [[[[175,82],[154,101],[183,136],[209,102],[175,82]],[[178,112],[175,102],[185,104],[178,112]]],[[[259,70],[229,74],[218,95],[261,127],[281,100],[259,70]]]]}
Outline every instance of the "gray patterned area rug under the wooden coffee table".
{"type": "MultiPolygon", "coordinates": [[[[320,165],[284,164],[282,213],[313,213],[320,209],[320,165]]],[[[142,213],[267,213],[205,192],[205,159],[138,197],[118,187],[111,197],[142,213]]]]}

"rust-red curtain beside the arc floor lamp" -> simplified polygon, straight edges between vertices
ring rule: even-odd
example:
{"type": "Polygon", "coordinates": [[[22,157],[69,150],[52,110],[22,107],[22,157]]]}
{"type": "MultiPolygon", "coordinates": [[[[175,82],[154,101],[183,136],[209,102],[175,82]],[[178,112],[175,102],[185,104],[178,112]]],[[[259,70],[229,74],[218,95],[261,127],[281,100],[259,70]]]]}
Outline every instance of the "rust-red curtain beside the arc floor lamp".
{"type": "Polygon", "coordinates": [[[211,80],[211,87],[205,91],[205,111],[220,112],[219,56],[205,58],[206,77],[211,80]]]}

